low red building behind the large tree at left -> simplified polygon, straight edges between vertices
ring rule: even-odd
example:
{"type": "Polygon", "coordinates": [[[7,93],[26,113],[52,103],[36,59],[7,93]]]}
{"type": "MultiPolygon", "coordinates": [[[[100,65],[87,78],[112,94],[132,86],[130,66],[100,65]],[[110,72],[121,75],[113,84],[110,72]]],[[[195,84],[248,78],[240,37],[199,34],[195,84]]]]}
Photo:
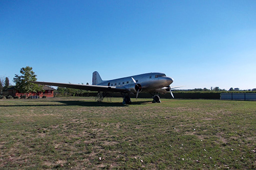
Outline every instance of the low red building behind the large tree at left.
{"type": "Polygon", "coordinates": [[[51,88],[49,86],[43,86],[42,87],[43,89],[43,92],[38,92],[38,93],[35,93],[35,92],[30,92],[30,93],[20,93],[18,90],[15,89],[15,86],[13,87],[10,87],[8,89],[6,89],[8,91],[8,95],[11,95],[11,96],[22,96],[22,95],[27,95],[27,97],[33,95],[33,96],[39,96],[40,98],[42,96],[46,96],[47,98],[54,98],[54,88],[51,88]]]}

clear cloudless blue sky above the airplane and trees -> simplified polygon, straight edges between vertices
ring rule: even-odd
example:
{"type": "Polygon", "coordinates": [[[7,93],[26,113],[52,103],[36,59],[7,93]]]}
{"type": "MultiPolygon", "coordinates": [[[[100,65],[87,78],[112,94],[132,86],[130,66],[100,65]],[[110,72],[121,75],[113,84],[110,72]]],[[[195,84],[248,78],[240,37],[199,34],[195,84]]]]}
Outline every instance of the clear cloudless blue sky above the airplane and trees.
{"type": "Polygon", "coordinates": [[[92,83],[164,72],[181,89],[256,88],[256,1],[0,1],[0,77],[92,83]]]}

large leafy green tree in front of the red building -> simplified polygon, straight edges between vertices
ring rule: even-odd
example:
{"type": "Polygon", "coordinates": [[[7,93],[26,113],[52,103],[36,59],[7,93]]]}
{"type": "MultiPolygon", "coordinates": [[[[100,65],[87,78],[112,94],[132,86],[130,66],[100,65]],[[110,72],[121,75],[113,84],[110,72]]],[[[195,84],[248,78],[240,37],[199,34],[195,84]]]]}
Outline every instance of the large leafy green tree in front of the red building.
{"type": "Polygon", "coordinates": [[[21,93],[29,93],[29,92],[38,92],[42,91],[42,85],[37,85],[31,83],[31,81],[36,81],[35,72],[32,70],[32,67],[23,67],[20,69],[20,74],[15,75],[13,78],[13,82],[16,83],[16,89],[21,93]]]}

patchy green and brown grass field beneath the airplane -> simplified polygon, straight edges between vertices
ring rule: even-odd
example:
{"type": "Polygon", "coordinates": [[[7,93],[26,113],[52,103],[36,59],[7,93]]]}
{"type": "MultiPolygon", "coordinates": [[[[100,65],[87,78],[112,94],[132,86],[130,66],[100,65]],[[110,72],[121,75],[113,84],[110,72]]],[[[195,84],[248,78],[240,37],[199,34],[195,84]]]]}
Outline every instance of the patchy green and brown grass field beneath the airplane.
{"type": "Polygon", "coordinates": [[[256,102],[132,101],[0,100],[0,168],[256,168],[256,102]]]}

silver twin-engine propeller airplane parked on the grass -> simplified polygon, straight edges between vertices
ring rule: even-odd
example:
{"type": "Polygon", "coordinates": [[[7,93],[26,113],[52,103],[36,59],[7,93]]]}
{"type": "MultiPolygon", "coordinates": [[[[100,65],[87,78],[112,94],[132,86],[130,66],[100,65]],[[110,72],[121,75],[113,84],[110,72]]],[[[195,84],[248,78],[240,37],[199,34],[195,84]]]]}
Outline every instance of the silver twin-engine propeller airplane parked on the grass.
{"type": "Polygon", "coordinates": [[[137,99],[141,91],[150,92],[153,95],[153,103],[161,103],[158,93],[170,93],[170,95],[172,95],[174,98],[171,89],[183,86],[170,87],[170,84],[172,84],[173,81],[174,79],[166,77],[165,74],[160,72],[151,72],[141,75],[103,81],[99,73],[97,71],[94,71],[92,85],[37,81],[32,83],[98,91],[99,93],[104,94],[102,96],[106,96],[106,94],[110,92],[120,92],[123,96],[123,104],[131,104],[130,94],[136,94],[137,99]]]}

